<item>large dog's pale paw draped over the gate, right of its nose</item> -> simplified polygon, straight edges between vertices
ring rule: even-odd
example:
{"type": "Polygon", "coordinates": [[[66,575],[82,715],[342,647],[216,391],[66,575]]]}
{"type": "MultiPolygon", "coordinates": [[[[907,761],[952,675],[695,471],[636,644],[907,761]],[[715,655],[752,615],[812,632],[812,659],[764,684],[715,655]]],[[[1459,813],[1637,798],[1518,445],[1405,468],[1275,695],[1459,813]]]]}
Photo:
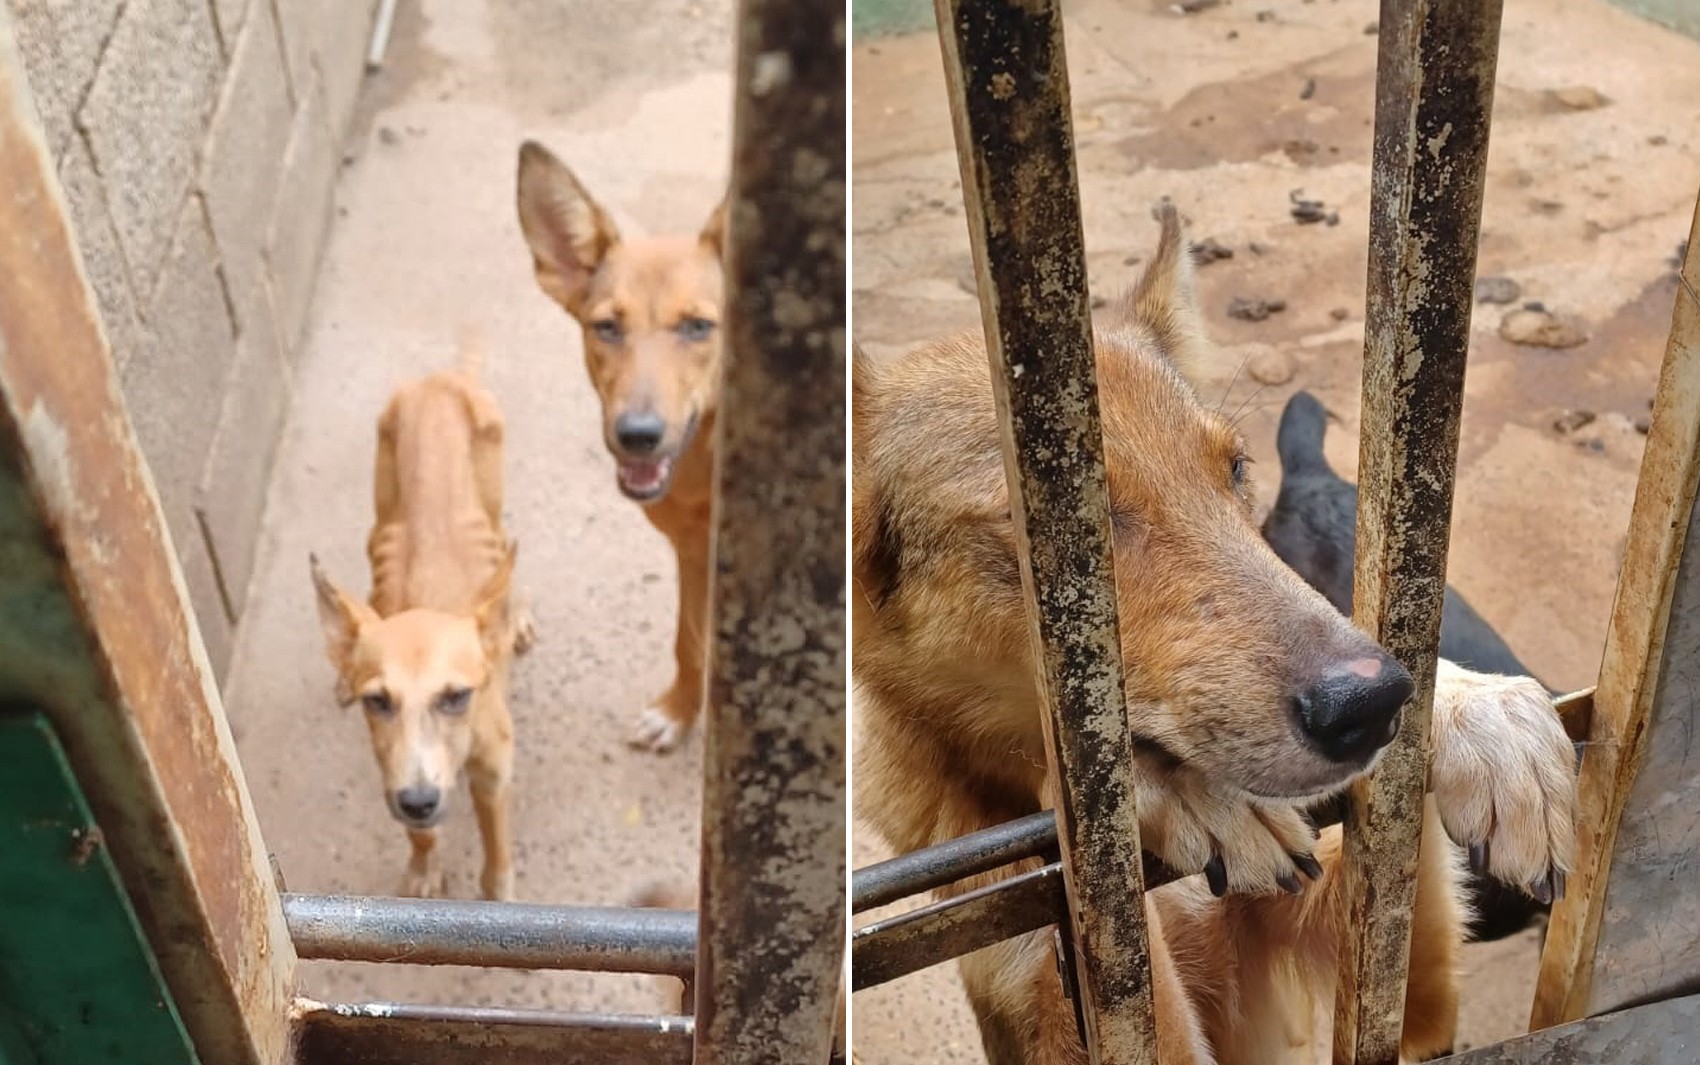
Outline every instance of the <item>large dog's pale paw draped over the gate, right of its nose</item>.
{"type": "Polygon", "coordinates": [[[1576,750],[1528,677],[1435,672],[1430,789],[1470,864],[1538,902],[1564,897],[1576,861],[1576,750]]]}

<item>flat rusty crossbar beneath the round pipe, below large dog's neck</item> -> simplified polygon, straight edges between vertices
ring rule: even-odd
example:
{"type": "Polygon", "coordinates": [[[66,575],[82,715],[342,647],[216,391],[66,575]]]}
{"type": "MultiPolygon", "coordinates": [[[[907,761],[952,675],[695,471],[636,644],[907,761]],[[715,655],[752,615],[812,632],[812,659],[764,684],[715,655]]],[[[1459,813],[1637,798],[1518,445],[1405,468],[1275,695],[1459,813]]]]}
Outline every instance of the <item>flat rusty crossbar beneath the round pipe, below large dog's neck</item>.
{"type": "Polygon", "coordinates": [[[850,987],[865,990],[908,977],[1056,924],[1066,912],[1059,863],[918,907],[850,936],[850,987]]]}

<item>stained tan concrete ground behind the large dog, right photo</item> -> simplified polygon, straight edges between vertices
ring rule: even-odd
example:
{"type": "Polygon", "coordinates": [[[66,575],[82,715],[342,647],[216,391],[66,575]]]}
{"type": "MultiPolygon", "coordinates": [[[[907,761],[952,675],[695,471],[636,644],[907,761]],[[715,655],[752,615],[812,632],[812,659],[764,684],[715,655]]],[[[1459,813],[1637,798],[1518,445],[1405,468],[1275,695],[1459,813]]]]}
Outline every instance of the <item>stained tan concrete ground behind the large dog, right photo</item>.
{"type": "MultiPolygon", "coordinates": [[[[1068,48],[1091,289],[1110,296],[1151,255],[1151,206],[1173,197],[1195,240],[1216,361],[1209,402],[1241,419],[1260,498],[1273,502],[1275,424],[1297,388],[1338,417],[1328,454],[1357,475],[1372,0],[1260,0],[1180,15],[1166,0],[1076,0],[1068,48]],[[1297,225],[1290,194],[1338,225],[1297,225]],[[1261,322],[1234,299],[1284,301],[1261,322]],[[1260,373],[1243,362],[1273,352],[1260,373]],[[1290,374],[1290,376],[1289,376],[1290,374]]],[[[979,327],[942,63],[932,34],[858,41],[853,78],[853,332],[872,354],[979,327]]],[[[1540,677],[1593,682],[1605,640],[1674,274],[1700,165],[1700,43],[1600,0],[1508,3],[1481,276],[1579,320],[1564,350],[1499,337],[1520,306],[1477,305],[1460,444],[1452,582],[1540,677]],[[1578,44],[1584,43],[1584,44],[1578,44]],[[1584,90],[1595,92],[1584,92],[1584,90]],[[1598,417],[1561,434],[1567,410],[1598,417]]],[[[858,825],[853,859],[886,857],[858,825]]],[[[1527,1024],[1535,932],[1470,948],[1459,1046],[1527,1024]]],[[[862,1060],[981,1062],[954,970],[855,997],[862,1060]]]]}

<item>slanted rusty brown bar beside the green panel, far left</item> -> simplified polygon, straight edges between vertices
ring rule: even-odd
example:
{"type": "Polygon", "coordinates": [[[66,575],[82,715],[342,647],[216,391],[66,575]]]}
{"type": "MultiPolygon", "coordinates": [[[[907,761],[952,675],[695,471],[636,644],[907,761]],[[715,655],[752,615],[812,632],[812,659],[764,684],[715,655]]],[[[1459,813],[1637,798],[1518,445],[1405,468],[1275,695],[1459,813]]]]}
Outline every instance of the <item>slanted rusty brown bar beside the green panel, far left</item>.
{"type": "Polygon", "coordinates": [[[204,1062],[287,1056],[294,949],[0,7],[0,691],[39,706],[204,1062]]]}

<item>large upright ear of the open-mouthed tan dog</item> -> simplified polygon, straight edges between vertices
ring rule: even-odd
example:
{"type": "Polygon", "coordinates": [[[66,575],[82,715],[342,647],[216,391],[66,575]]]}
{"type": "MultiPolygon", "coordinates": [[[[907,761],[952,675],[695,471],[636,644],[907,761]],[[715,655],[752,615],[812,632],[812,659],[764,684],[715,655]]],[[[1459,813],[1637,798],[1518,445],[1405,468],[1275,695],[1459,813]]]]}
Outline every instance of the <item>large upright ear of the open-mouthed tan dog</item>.
{"type": "Polygon", "coordinates": [[[537,286],[578,315],[590,277],[620,242],[614,219],[566,163],[537,141],[520,145],[518,213],[537,286]]]}

